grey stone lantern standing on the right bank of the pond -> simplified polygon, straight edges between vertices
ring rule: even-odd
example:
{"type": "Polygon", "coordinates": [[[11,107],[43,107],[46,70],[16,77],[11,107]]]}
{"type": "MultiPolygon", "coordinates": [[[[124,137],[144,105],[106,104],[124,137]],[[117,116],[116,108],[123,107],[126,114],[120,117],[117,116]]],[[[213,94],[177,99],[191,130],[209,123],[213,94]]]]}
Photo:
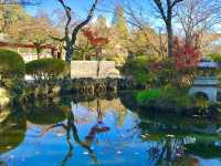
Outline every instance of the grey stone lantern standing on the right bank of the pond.
{"type": "Polygon", "coordinates": [[[189,94],[196,96],[203,95],[210,102],[217,102],[219,80],[215,75],[218,63],[203,59],[197,64],[197,76],[189,94]]]}

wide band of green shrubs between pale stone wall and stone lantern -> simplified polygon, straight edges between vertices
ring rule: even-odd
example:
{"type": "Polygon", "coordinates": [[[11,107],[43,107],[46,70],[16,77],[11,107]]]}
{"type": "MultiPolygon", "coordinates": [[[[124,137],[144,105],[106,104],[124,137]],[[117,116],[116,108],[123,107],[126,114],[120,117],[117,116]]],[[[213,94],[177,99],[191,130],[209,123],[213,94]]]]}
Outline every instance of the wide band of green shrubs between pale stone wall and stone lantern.
{"type": "Polygon", "coordinates": [[[150,87],[172,85],[185,89],[192,84],[196,73],[192,69],[177,70],[172,59],[159,61],[150,55],[128,60],[122,72],[127,76],[133,76],[138,84],[150,87]]]}

